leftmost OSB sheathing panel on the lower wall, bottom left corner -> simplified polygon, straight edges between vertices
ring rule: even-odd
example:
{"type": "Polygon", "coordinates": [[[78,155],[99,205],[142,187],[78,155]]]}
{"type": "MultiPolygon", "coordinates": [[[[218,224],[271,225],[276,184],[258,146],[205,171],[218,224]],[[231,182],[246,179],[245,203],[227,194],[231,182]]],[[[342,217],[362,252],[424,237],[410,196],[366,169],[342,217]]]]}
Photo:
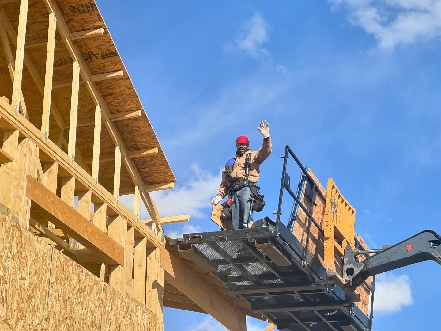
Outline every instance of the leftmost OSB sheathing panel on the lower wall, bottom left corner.
{"type": "Polygon", "coordinates": [[[0,330],[45,330],[51,251],[0,214],[0,330]]]}

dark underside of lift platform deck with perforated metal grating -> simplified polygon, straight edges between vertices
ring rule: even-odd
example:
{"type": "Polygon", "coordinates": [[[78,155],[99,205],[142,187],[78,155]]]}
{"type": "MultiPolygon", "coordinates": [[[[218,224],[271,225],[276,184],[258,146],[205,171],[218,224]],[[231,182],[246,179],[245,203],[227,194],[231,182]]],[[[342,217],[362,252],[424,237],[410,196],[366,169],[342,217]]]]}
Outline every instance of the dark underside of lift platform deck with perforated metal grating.
{"type": "MultiPolygon", "coordinates": [[[[238,231],[235,230],[235,233],[238,231]]],[[[351,305],[344,301],[341,290],[335,287],[327,289],[325,286],[305,286],[304,289],[296,287],[290,290],[293,283],[306,282],[307,285],[321,280],[317,271],[303,265],[303,246],[295,243],[296,239],[291,233],[289,241],[281,236],[271,238],[271,242],[277,244],[277,249],[291,260],[291,265],[279,267],[263,249],[256,246],[255,238],[249,233],[244,233],[243,238],[225,240],[228,232],[208,233],[208,239],[204,233],[191,234],[191,239],[184,235],[182,243],[192,243],[196,255],[208,261],[215,269],[210,270],[211,273],[225,282],[228,290],[248,301],[251,310],[262,313],[275,323],[278,330],[368,331],[366,316],[356,311],[353,305],[346,307],[351,305]],[[196,241],[194,237],[200,237],[199,241],[202,242],[196,241]],[[286,286],[279,290],[284,284],[286,286]],[[324,309],[329,305],[330,309],[324,309]]],[[[185,254],[184,249],[180,252],[185,254]]]]}

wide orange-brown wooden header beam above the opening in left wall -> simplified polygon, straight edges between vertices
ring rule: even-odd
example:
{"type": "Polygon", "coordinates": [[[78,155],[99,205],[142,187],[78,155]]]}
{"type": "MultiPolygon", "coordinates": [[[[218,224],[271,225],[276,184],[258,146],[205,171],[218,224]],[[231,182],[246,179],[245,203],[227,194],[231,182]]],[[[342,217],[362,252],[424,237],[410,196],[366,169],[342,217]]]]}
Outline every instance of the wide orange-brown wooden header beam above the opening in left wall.
{"type": "Polygon", "coordinates": [[[33,209],[57,228],[63,229],[106,262],[124,265],[124,248],[120,244],[30,175],[27,177],[26,196],[31,199],[33,209]]]}

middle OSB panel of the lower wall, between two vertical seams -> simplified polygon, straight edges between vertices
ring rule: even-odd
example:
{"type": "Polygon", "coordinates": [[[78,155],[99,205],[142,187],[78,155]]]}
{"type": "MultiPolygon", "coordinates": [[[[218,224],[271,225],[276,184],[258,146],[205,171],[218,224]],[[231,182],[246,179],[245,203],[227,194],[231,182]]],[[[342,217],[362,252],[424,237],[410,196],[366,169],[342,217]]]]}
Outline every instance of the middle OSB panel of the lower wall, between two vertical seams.
{"type": "Polygon", "coordinates": [[[99,278],[54,250],[48,330],[101,330],[103,287],[99,278]]]}

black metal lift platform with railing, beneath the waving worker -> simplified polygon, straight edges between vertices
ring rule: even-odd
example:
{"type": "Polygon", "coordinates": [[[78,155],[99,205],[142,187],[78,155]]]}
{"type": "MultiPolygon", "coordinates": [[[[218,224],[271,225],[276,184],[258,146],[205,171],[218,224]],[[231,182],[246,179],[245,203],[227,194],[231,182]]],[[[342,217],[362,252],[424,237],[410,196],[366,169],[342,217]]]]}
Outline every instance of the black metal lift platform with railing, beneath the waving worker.
{"type": "MultiPolygon", "coordinates": [[[[251,310],[261,313],[281,331],[370,331],[367,317],[332,279],[309,249],[311,224],[318,227],[299,193],[290,189],[286,165],[289,155],[302,170],[302,177],[317,192],[317,185],[298,158],[285,149],[276,221],[257,221],[249,229],[184,234],[173,239],[180,254],[228,286],[228,291],[248,301],[251,310]],[[306,246],[280,222],[284,190],[309,217],[306,246]]],[[[323,230],[321,230],[323,231],[323,230]]],[[[374,282],[369,286],[374,293],[374,282]]],[[[372,315],[372,303],[371,303],[372,315]]]]}

